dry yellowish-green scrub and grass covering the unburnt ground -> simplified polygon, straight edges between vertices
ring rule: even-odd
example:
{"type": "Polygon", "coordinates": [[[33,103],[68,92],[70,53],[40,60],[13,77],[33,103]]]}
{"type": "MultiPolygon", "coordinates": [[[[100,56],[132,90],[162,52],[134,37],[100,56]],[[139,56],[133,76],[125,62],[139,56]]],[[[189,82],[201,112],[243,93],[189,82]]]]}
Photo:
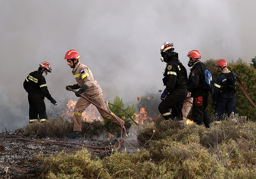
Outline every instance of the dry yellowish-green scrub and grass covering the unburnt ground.
{"type": "MultiPolygon", "coordinates": [[[[136,154],[114,151],[103,159],[87,150],[51,155],[43,161],[47,169],[44,178],[256,177],[256,123],[247,121],[246,117],[226,118],[209,129],[196,124],[181,126],[177,121],[165,121],[157,116],[153,121],[141,124],[138,130],[138,140],[141,144],[147,142],[146,149],[136,154]]],[[[101,121],[94,122],[106,128],[101,121]]],[[[96,130],[95,126],[83,125],[87,130],[84,133],[96,130]]],[[[44,130],[62,136],[72,130],[72,122],[52,119],[23,129],[27,134],[44,130]]]]}

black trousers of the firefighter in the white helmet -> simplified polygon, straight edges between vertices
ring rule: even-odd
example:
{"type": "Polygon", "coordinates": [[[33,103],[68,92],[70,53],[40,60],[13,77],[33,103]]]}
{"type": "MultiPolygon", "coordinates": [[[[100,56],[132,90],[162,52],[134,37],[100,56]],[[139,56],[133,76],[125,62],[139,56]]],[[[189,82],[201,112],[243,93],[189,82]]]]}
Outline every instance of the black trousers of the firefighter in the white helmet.
{"type": "Polygon", "coordinates": [[[183,120],[182,107],[186,97],[187,95],[173,94],[168,94],[165,97],[165,101],[162,101],[158,106],[158,110],[165,120],[174,120],[175,117],[177,120],[183,120]],[[170,108],[172,108],[172,112],[170,112],[170,108]]]}

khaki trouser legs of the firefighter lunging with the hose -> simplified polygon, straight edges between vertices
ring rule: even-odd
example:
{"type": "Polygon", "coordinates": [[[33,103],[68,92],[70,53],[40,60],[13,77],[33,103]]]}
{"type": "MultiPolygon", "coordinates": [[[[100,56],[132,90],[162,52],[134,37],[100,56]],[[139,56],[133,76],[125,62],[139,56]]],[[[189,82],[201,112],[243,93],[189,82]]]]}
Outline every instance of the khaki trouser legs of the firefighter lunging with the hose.
{"type": "MultiPolygon", "coordinates": [[[[105,109],[106,111],[108,111],[110,114],[114,115],[117,119],[119,119],[119,121],[124,125],[124,121],[122,119],[120,119],[119,117],[117,117],[114,113],[112,113],[110,110],[107,109],[105,101],[103,99],[103,95],[102,92],[97,92],[92,96],[87,96],[83,93],[83,95],[90,99],[92,102],[94,102],[95,104],[97,104],[98,106],[100,106],[101,108],[105,109]]],[[[82,127],[81,127],[81,123],[82,123],[82,113],[83,111],[85,111],[85,109],[90,105],[91,103],[89,101],[87,101],[86,99],[84,99],[83,97],[80,97],[74,107],[73,110],[73,119],[74,119],[74,131],[82,131],[82,127]]],[[[116,121],[116,119],[114,119],[112,116],[110,116],[109,114],[105,113],[103,110],[99,109],[97,107],[100,115],[103,118],[106,118],[108,120],[110,120],[111,122],[114,122],[116,125],[118,125],[119,127],[122,127],[121,124],[116,121]]]]}

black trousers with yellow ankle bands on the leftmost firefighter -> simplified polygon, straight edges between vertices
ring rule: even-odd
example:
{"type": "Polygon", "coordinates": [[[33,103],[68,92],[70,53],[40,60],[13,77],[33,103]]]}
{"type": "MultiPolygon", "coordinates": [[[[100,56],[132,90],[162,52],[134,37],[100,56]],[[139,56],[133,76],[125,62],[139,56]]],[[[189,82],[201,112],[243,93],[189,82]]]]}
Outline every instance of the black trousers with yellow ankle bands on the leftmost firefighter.
{"type": "Polygon", "coordinates": [[[37,116],[39,115],[40,122],[47,120],[45,101],[42,97],[28,97],[29,104],[29,122],[37,121],[37,116]]]}

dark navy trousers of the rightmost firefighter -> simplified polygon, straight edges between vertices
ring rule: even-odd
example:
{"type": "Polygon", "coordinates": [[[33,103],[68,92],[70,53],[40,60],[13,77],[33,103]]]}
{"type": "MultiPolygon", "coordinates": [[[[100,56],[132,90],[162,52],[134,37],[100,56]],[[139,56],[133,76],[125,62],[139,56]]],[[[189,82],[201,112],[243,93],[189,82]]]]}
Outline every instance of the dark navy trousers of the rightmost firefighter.
{"type": "Polygon", "coordinates": [[[217,101],[216,107],[217,109],[215,110],[215,120],[216,121],[221,121],[222,120],[222,115],[224,114],[224,110],[226,110],[228,117],[231,115],[232,112],[236,114],[236,109],[235,109],[235,97],[231,98],[222,98],[220,101],[217,101]]]}

